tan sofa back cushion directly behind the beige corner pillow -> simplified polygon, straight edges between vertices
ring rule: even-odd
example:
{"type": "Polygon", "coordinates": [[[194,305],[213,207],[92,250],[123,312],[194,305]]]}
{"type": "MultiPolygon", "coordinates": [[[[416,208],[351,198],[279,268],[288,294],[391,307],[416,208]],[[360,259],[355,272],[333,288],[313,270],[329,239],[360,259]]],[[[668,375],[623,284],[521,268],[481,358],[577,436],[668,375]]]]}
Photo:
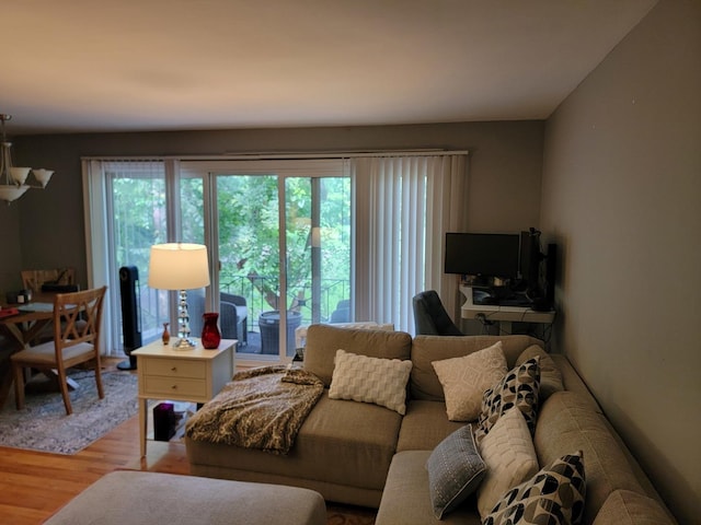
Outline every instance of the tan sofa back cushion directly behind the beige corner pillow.
{"type": "Polygon", "coordinates": [[[434,361],[459,358],[474,353],[502,341],[507,369],[514,368],[520,353],[531,345],[542,341],[530,336],[416,336],[412,342],[412,374],[410,393],[413,399],[444,401],[443,386],[436,371],[430,364],[434,361]]]}

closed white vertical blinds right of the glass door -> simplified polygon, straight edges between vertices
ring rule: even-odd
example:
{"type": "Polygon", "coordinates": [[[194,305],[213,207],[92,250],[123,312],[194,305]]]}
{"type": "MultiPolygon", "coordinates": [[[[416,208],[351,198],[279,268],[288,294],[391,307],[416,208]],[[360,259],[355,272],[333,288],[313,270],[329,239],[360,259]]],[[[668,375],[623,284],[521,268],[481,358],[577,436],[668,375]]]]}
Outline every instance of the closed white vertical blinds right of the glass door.
{"type": "Polygon", "coordinates": [[[416,293],[436,290],[453,304],[455,282],[443,273],[443,240],[448,231],[467,229],[467,167],[464,154],[352,161],[356,318],[413,332],[416,293]]]}

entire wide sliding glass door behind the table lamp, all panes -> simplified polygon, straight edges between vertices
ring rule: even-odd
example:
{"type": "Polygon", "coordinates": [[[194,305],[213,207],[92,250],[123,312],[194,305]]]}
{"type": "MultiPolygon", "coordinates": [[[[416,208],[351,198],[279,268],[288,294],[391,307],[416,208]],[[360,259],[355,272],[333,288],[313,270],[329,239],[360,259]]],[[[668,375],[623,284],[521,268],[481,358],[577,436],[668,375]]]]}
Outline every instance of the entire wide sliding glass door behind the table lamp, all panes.
{"type": "Polygon", "coordinates": [[[353,320],[350,178],[343,161],[95,160],[83,168],[93,279],[112,291],[105,313],[112,354],[124,350],[120,267],[139,275],[143,343],[176,318],[176,292],[148,285],[150,247],[165,242],[207,245],[211,285],[187,292],[191,331],[199,335],[204,312],[218,312],[222,336],[239,340],[244,360],[287,360],[298,327],[353,320]]]}

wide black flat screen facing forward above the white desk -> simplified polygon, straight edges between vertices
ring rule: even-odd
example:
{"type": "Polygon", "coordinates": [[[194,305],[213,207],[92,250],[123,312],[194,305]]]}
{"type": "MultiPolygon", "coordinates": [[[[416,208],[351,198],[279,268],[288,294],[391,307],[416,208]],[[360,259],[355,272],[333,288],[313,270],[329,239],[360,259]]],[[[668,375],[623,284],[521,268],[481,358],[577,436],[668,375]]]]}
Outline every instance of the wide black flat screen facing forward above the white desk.
{"type": "Polygon", "coordinates": [[[446,273],[518,278],[520,235],[446,233],[446,273]]]}

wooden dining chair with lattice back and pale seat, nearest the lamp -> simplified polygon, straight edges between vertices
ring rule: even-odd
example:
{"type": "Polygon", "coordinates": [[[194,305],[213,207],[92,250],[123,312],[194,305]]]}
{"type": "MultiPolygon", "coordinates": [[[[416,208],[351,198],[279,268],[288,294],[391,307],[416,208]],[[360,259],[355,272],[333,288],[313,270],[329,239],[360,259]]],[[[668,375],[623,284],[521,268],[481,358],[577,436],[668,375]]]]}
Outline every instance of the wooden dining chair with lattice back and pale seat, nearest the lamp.
{"type": "Polygon", "coordinates": [[[18,410],[24,407],[24,369],[55,373],[66,406],[72,413],[68,395],[67,369],[89,363],[95,370],[100,399],[105,397],[100,371],[100,331],[102,307],[107,287],[73,293],[58,293],[54,299],[54,340],[28,347],[10,358],[14,375],[18,410]]]}

